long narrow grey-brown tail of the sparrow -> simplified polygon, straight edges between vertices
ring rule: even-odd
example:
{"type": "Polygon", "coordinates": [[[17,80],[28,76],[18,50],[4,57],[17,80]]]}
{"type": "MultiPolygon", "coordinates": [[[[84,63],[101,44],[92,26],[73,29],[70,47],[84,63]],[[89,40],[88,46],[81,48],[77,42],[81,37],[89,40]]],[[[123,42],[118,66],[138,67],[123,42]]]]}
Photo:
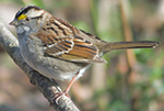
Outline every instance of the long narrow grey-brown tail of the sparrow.
{"type": "Polygon", "coordinates": [[[129,49],[129,48],[155,48],[159,42],[153,41],[137,41],[137,42],[114,42],[104,45],[103,53],[114,49],[129,49]]]}

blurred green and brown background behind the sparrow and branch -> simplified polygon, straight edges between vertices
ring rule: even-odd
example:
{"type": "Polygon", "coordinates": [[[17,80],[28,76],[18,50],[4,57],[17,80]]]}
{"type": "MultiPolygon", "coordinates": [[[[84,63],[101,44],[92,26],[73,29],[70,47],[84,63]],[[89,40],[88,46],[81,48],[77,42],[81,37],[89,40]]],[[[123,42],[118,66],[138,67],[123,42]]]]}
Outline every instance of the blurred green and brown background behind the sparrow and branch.
{"type": "MultiPolygon", "coordinates": [[[[9,25],[19,9],[44,8],[108,42],[159,41],[155,49],[113,51],[71,88],[82,111],[164,111],[164,0],[0,0],[9,25]]],[[[65,90],[68,82],[60,82],[65,90]]],[[[0,111],[54,111],[0,47],[0,111]]]]}

